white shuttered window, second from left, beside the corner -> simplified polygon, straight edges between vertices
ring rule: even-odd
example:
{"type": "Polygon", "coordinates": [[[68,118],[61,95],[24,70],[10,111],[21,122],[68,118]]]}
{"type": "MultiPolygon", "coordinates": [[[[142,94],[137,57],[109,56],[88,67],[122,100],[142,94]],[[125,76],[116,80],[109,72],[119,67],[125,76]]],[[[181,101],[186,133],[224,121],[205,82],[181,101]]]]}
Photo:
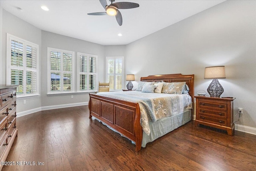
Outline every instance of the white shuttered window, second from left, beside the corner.
{"type": "Polygon", "coordinates": [[[48,48],[48,93],[74,92],[74,52],[48,48]]]}

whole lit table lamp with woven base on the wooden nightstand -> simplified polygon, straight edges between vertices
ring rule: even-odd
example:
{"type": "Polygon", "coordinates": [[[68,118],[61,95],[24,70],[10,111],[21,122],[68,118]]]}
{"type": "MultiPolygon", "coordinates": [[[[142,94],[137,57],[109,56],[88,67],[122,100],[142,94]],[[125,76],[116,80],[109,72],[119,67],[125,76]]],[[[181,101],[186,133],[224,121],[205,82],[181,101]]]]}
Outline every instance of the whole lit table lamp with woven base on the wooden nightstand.
{"type": "Polygon", "coordinates": [[[226,78],[225,66],[211,66],[205,68],[204,79],[213,79],[207,89],[211,97],[220,97],[220,95],[224,92],[218,78],[226,78]]]}

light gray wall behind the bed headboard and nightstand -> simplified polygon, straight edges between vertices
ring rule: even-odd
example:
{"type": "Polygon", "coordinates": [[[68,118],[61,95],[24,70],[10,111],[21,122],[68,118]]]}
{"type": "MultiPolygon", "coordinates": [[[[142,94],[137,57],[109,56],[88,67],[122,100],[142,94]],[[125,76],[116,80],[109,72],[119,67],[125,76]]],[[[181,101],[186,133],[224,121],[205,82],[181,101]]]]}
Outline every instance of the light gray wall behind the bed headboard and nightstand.
{"type": "Polygon", "coordinates": [[[126,46],[126,73],[195,74],[195,93],[212,80],[204,68],[224,65],[222,96],[236,97],[238,124],[256,128],[256,1],[226,1],[126,46]],[[128,67],[129,66],[129,67],[128,67]]]}

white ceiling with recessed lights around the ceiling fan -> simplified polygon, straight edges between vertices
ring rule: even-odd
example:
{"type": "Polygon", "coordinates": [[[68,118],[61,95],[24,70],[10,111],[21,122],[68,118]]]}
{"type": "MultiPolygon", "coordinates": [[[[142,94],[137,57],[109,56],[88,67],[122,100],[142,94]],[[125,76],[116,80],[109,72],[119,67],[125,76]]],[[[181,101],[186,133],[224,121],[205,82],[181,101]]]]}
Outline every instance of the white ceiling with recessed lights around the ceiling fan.
{"type": "Polygon", "coordinates": [[[99,0],[0,0],[0,6],[41,30],[102,45],[126,45],[224,1],[116,0],[140,5],[120,9],[122,26],[115,16],[87,15],[105,11],[99,0]],[[42,10],[42,5],[49,11],[42,10]],[[18,7],[23,11],[17,10],[18,7]]]}

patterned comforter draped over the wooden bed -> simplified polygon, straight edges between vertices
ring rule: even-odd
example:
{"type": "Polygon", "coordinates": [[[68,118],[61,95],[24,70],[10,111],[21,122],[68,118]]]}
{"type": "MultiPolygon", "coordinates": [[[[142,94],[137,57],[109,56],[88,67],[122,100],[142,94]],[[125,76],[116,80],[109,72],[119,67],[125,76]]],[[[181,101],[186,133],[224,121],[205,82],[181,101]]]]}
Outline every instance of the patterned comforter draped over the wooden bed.
{"type": "Polygon", "coordinates": [[[192,109],[192,99],[188,94],[142,93],[141,91],[100,92],[97,95],[138,103],[140,125],[150,134],[149,121],[157,121],[186,109],[192,109]]]}

